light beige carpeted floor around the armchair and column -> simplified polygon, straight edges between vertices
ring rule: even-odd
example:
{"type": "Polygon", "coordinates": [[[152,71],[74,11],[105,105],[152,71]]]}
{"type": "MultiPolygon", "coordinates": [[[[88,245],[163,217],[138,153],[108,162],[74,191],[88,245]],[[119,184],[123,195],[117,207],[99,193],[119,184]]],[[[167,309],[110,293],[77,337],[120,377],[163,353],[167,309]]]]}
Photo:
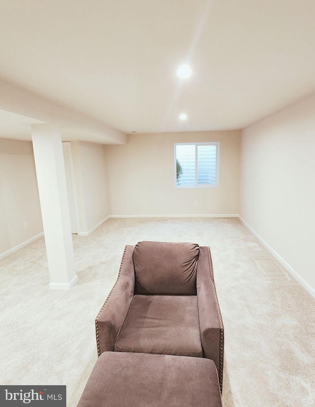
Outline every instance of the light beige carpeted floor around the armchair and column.
{"type": "Polygon", "coordinates": [[[211,247],[225,328],[224,407],[315,406],[315,298],[237,218],[110,219],[73,236],[78,283],[49,290],[44,239],[0,261],[0,384],[66,384],[75,407],[97,358],[95,317],[126,244],[211,247]]]}

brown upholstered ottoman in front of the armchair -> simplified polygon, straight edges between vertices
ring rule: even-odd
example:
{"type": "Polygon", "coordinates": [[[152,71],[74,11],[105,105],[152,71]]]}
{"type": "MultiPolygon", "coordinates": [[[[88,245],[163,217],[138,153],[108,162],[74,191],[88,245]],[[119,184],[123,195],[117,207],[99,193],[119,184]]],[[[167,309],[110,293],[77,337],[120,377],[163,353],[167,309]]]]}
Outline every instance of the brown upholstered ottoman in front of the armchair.
{"type": "Polygon", "coordinates": [[[217,368],[210,359],[103,352],[78,407],[221,407],[217,368]]]}

